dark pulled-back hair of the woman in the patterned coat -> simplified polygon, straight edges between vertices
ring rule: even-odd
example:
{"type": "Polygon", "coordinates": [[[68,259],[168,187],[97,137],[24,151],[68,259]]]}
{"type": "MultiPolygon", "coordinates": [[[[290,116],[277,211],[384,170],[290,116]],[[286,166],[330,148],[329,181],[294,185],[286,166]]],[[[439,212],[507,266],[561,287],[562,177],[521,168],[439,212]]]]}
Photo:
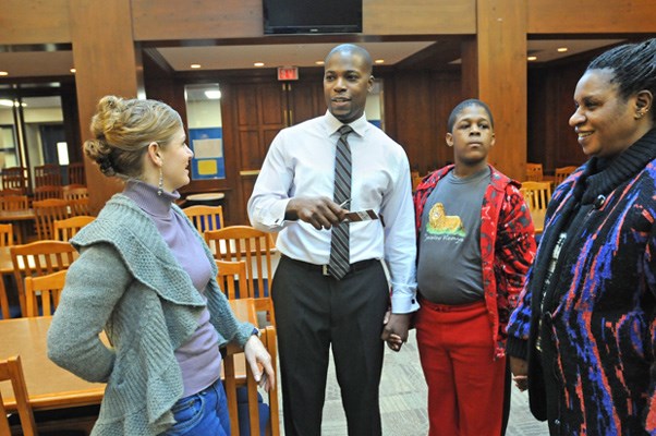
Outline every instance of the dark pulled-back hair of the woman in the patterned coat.
{"type": "Polygon", "coordinates": [[[604,69],[614,72],[610,82],[618,84],[622,98],[643,89],[656,96],[656,38],[611,48],[587,65],[587,70],[604,69]]]}

